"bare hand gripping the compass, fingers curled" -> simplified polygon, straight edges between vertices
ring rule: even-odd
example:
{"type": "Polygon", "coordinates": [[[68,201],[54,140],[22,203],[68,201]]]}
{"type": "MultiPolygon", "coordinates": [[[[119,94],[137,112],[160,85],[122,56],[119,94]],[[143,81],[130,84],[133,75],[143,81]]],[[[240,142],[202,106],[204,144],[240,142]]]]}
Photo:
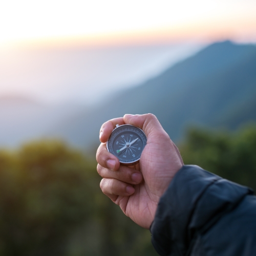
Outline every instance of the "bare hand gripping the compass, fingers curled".
{"type": "Polygon", "coordinates": [[[178,148],[152,114],[124,115],[105,122],[100,141],[96,159],[103,193],[138,225],[150,228],[160,197],[183,165],[178,148]],[[146,134],[147,143],[136,166],[120,165],[118,158],[106,150],[116,124],[132,124],[146,134]]]}

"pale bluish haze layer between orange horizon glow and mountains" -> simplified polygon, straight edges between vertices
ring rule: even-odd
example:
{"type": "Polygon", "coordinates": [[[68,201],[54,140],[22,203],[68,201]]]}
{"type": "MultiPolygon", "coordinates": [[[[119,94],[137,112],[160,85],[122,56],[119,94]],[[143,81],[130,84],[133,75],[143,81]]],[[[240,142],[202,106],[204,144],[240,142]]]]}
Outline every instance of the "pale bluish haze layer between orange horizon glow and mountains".
{"type": "Polygon", "coordinates": [[[183,44],[0,51],[0,98],[22,95],[50,103],[94,103],[157,75],[200,47],[183,44]]]}

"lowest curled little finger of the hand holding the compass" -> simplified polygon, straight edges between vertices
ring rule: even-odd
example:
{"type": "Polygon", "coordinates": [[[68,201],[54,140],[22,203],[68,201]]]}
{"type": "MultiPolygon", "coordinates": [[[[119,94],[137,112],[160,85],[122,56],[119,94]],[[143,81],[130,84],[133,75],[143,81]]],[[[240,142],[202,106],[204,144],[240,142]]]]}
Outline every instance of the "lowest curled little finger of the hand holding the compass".
{"type": "Polygon", "coordinates": [[[114,202],[118,196],[131,196],[135,191],[135,188],[130,184],[107,178],[101,180],[100,188],[102,192],[114,202]]]}

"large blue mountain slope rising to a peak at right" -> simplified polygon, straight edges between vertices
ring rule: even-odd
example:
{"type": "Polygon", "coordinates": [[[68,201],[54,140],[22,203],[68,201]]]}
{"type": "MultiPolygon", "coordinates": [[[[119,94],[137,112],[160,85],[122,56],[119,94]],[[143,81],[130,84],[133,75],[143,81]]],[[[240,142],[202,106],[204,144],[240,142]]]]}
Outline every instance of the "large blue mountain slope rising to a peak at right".
{"type": "Polygon", "coordinates": [[[189,124],[235,128],[256,120],[255,99],[256,47],[218,42],[104,105],[66,120],[51,134],[88,147],[98,143],[104,121],[125,113],[153,113],[177,141],[189,124]]]}

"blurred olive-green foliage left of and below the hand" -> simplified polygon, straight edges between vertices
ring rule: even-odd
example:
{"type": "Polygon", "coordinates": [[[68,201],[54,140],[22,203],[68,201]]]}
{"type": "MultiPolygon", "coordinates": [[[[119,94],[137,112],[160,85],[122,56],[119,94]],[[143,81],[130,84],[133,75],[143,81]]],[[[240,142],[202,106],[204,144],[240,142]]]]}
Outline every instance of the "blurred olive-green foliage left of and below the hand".
{"type": "Polygon", "coordinates": [[[95,160],[59,141],[0,151],[0,254],[157,255],[99,182],[95,160]]]}

